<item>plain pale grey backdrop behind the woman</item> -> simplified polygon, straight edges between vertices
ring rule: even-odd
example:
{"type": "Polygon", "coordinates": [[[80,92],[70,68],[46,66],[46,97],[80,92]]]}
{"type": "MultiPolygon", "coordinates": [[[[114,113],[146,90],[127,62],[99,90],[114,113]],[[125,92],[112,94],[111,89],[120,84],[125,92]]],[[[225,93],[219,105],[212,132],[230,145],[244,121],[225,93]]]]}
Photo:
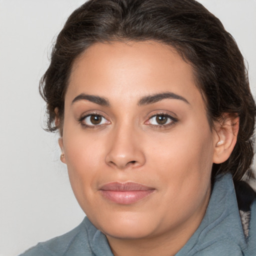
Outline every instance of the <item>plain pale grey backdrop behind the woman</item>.
{"type": "MultiPolygon", "coordinates": [[[[256,0],[199,0],[223,22],[249,65],[256,95],[256,0]]],[[[0,256],[62,234],[84,217],[42,129],[38,81],[51,44],[83,0],[0,0],[0,256]]]]}

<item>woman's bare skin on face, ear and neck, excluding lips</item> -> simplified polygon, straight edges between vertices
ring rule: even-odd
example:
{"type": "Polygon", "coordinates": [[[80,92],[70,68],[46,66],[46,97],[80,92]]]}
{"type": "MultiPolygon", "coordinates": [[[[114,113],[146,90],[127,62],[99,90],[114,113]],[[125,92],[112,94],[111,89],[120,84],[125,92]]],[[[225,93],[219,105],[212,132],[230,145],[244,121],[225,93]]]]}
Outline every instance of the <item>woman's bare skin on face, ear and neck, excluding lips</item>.
{"type": "Polygon", "coordinates": [[[96,43],[76,59],[65,95],[61,160],[77,201],[114,255],[174,255],[186,243],[207,207],[212,163],[226,160],[236,141],[238,118],[223,117],[210,128],[192,67],[169,46],[96,43]],[[182,98],[141,104],[166,92],[182,98]],[[93,125],[89,114],[102,116],[100,123],[93,125]],[[171,117],[160,125],[156,114],[171,117]],[[116,203],[100,191],[113,181],[153,190],[133,203],[116,203]]]}

